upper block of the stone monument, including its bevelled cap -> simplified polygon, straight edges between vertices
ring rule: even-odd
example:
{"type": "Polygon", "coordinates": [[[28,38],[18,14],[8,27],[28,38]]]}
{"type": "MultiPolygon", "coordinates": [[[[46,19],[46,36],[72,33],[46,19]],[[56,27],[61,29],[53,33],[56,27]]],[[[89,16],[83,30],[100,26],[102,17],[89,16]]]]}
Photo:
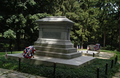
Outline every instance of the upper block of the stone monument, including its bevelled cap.
{"type": "Polygon", "coordinates": [[[70,39],[71,26],[74,24],[65,16],[46,17],[36,21],[39,24],[39,38],[70,39]]]}

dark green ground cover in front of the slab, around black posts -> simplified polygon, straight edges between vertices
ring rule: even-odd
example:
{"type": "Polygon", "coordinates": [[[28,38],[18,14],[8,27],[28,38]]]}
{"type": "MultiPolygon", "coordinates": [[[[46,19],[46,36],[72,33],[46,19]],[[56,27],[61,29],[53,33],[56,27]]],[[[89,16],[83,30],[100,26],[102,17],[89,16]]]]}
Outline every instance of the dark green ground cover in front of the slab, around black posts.
{"type": "MultiPolygon", "coordinates": [[[[111,51],[113,52],[113,51],[111,51]]],[[[11,53],[11,52],[8,52],[11,53]]],[[[22,53],[13,52],[13,53],[22,53]]],[[[116,54],[119,52],[116,52],[116,54]]],[[[1,53],[5,55],[5,52],[1,53]]],[[[114,57],[113,57],[114,58],[114,57]]],[[[113,64],[111,68],[111,59],[95,59],[93,63],[82,66],[80,68],[68,68],[66,66],[56,65],[56,78],[97,78],[97,68],[99,68],[99,78],[111,78],[119,69],[120,64],[113,64]],[[105,74],[105,65],[108,63],[108,74],[105,74]]],[[[18,61],[12,59],[5,59],[4,56],[0,57],[0,68],[18,70],[18,61]]],[[[33,75],[44,76],[47,78],[53,78],[54,66],[43,66],[43,65],[29,65],[27,63],[21,63],[21,72],[29,73],[33,75]]]]}

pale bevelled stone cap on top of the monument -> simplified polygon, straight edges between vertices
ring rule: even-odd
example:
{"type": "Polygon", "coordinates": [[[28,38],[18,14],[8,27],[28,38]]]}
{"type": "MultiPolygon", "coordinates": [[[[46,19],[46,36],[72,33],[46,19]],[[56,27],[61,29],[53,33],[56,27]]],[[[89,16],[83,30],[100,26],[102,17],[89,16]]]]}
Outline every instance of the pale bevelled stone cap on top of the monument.
{"type": "Polygon", "coordinates": [[[36,21],[37,23],[43,23],[43,22],[48,22],[48,23],[55,23],[55,22],[62,22],[62,23],[70,23],[70,24],[74,24],[73,21],[69,20],[68,18],[66,18],[65,16],[47,16],[45,18],[39,19],[36,21]]]}

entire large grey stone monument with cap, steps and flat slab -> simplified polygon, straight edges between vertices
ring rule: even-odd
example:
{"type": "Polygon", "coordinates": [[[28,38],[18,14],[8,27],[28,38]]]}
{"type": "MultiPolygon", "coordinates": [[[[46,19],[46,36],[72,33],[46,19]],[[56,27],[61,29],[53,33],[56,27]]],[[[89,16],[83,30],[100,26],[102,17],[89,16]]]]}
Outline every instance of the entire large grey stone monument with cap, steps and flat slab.
{"type": "Polygon", "coordinates": [[[50,16],[36,21],[39,25],[39,37],[34,42],[34,58],[26,59],[22,53],[8,54],[8,58],[34,65],[57,65],[79,67],[94,60],[94,57],[81,56],[70,41],[70,30],[74,22],[65,16],[50,16]],[[80,57],[79,57],[80,56],[80,57]]]}

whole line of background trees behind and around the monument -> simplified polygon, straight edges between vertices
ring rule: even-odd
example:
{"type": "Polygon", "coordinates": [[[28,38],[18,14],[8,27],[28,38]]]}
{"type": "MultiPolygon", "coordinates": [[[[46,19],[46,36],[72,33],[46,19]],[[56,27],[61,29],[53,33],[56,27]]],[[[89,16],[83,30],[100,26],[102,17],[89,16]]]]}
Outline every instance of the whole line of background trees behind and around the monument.
{"type": "Polygon", "coordinates": [[[74,21],[71,40],[75,45],[100,43],[104,49],[120,51],[119,0],[1,0],[0,37],[10,40],[9,49],[33,45],[39,30],[35,20],[46,16],[74,21]]]}

